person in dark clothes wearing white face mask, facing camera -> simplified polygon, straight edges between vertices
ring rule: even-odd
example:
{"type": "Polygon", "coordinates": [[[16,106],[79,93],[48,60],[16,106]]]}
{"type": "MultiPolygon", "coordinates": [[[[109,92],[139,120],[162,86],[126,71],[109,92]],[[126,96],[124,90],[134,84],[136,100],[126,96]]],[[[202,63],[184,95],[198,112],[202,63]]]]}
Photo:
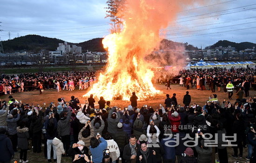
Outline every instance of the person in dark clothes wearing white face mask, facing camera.
{"type": "Polygon", "coordinates": [[[72,160],[74,160],[73,163],[87,163],[83,156],[86,155],[87,157],[89,157],[88,151],[89,150],[85,146],[85,143],[83,141],[79,141],[77,143],[74,143],[72,147],[69,148],[67,153],[69,156],[72,157],[72,160]]]}

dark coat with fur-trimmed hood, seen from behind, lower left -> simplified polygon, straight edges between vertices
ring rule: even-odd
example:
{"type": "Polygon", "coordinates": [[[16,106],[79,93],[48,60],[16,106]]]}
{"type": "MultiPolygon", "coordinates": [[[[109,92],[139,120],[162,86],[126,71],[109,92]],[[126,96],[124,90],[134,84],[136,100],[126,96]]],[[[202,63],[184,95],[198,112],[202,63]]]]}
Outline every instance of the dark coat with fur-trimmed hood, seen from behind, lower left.
{"type": "Polygon", "coordinates": [[[27,150],[28,149],[28,128],[24,127],[20,129],[20,127],[17,127],[17,137],[18,137],[18,148],[21,150],[27,150]]]}

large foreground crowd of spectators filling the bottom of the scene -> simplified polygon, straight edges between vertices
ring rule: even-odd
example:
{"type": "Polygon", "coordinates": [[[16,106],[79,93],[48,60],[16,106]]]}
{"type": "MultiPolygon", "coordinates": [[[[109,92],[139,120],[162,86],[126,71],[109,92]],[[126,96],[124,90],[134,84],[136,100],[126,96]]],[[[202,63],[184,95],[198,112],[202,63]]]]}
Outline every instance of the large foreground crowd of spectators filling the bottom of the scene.
{"type": "Polygon", "coordinates": [[[175,95],[167,94],[165,105],[156,108],[137,106],[135,93],[125,108],[103,97],[94,107],[93,95],[83,107],[74,96],[42,106],[10,96],[1,101],[0,162],[19,149],[20,162],[27,163],[30,139],[34,153],[43,151],[48,162],[57,163],[61,157],[74,163],[228,163],[229,146],[235,159],[256,162],[256,97],[235,104],[210,97],[201,107],[190,105],[189,91],[183,104],[175,95]]]}

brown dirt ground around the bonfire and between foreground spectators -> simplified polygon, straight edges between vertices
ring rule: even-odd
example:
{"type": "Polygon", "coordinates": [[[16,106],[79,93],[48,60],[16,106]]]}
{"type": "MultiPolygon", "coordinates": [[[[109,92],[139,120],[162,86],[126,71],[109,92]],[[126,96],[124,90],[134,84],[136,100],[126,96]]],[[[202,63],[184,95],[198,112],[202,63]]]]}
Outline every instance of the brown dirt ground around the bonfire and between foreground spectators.
{"type": "MultiPolygon", "coordinates": [[[[186,94],[186,88],[181,87],[179,85],[171,85],[171,90],[166,90],[166,87],[164,85],[155,85],[155,87],[158,90],[161,90],[162,93],[159,95],[156,95],[154,98],[150,98],[147,100],[143,101],[138,101],[138,106],[141,107],[143,104],[147,104],[148,106],[152,106],[155,108],[159,104],[164,104],[164,100],[166,98],[166,94],[168,93],[170,97],[172,96],[173,93],[176,93],[176,98],[178,101],[178,104],[182,104],[183,96],[186,94]]],[[[83,98],[82,95],[84,95],[87,91],[86,90],[74,90],[74,91],[63,91],[57,92],[56,90],[45,90],[42,95],[39,94],[39,91],[29,91],[29,92],[22,92],[22,93],[15,93],[13,94],[13,97],[17,99],[18,101],[22,101],[23,103],[29,103],[29,104],[43,104],[47,103],[50,104],[50,102],[57,103],[57,98],[64,97],[66,100],[70,100],[70,97],[74,95],[75,97],[78,97],[80,99],[81,103],[84,103],[87,98],[83,98]]],[[[249,91],[250,95],[255,95],[256,91],[249,91]]],[[[191,95],[192,101],[191,103],[196,103],[199,105],[203,105],[210,94],[212,94],[211,91],[200,91],[196,90],[195,88],[189,90],[189,94],[191,95]]],[[[228,99],[228,94],[223,93],[222,91],[218,92],[216,91],[215,94],[217,94],[217,98],[219,101],[222,101],[223,99],[228,99]]],[[[8,100],[8,95],[1,96],[0,97],[2,100],[8,100]]],[[[236,95],[234,93],[233,99],[231,100],[232,104],[235,102],[236,95]]],[[[98,101],[97,99],[95,99],[98,101]]],[[[97,103],[97,102],[96,102],[97,103]]],[[[111,101],[111,106],[119,106],[121,108],[127,107],[128,104],[130,104],[129,101],[121,101],[121,100],[115,100],[111,101]]],[[[97,107],[97,106],[96,106],[97,107]]],[[[30,148],[31,147],[31,142],[30,142],[30,148]]],[[[43,147],[42,147],[43,148],[43,147]]],[[[239,161],[239,163],[245,163],[245,156],[247,155],[247,149],[244,148],[243,151],[243,158],[239,159],[233,159],[231,155],[233,154],[233,149],[228,148],[228,155],[229,155],[229,163],[234,163],[235,161],[239,161]]],[[[215,155],[216,159],[218,155],[215,155]]],[[[14,156],[14,159],[17,159],[19,161],[19,153],[16,153],[14,156]]],[[[47,159],[44,158],[43,152],[39,154],[34,154],[32,150],[28,151],[28,156],[27,159],[29,160],[30,163],[47,163],[47,159]]],[[[61,163],[71,163],[71,158],[62,158],[61,163]]]]}

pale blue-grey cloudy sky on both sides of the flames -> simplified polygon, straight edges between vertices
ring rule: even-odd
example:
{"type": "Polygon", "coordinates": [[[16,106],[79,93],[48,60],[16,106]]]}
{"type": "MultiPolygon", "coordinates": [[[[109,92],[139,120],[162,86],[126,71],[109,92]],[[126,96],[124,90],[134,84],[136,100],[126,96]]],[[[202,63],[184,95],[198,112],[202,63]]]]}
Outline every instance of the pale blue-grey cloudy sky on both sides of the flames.
{"type": "MultiPolygon", "coordinates": [[[[224,39],[256,43],[255,0],[205,1],[177,13],[165,37],[202,48],[224,39]]],[[[104,7],[106,0],[1,0],[0,37],[38,34],[73,43],[104,37],[110,28],[104,7]]]]}

